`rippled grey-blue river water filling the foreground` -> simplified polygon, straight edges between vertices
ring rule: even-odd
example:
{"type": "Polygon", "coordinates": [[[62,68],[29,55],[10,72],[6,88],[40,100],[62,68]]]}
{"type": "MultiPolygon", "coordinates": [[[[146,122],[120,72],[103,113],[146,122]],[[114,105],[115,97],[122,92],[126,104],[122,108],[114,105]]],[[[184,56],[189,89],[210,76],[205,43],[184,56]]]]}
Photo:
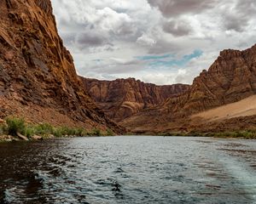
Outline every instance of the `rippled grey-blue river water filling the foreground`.
{"type": "Polygon", "coordinates": [[[0,170],[0,203],[256,203],[256,140],[3,143],[0,170]]]}

